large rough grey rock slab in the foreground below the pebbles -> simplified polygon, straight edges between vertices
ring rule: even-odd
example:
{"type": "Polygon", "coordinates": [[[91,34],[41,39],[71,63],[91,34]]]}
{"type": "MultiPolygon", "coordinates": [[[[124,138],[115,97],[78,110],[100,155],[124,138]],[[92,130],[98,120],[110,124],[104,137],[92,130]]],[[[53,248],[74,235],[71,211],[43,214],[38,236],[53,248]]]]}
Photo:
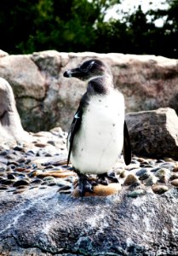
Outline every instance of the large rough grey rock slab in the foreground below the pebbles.
{"type": "Polygon", "coordinates": [[[49,187],[1,197],[1,255],[177,255],[178,192],[74,199],[49,187]]]}

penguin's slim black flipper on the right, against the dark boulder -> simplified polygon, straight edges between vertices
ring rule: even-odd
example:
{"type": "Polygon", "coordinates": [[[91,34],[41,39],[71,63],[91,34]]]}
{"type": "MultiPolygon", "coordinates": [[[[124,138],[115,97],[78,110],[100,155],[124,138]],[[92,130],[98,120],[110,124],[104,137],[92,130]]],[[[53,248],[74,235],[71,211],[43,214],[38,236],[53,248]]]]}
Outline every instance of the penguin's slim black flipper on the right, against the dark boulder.
{"type": "Polygon", "coordinates": [[[132,158],[131,144],[129,140],[129,131],[124,121],[123,125],[123,159],[125,161],[125,165],[129,166],[132,158]]]}

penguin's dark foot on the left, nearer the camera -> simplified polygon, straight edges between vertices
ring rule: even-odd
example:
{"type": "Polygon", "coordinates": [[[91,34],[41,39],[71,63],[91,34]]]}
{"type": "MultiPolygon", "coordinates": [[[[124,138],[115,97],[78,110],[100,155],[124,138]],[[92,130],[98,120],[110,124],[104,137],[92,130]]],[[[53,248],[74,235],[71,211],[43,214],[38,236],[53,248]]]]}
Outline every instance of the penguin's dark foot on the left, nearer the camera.
{"type": "Polygon", "coordinates": [[[94,193],[95,182],[89,180],[89,177],[82,173],[78,173],[78,190],[79,196],[84,196],[85,192],[94,193]]]}

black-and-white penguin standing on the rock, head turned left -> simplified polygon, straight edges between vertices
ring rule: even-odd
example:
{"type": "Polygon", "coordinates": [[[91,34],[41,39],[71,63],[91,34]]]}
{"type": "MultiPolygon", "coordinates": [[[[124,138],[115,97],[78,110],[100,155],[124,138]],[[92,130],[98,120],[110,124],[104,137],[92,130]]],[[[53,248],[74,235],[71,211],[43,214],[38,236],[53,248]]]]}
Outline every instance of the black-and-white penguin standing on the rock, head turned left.
{"type": "Polygon", "coordinates": [[[97,182],[105,185],[108,180],[118,182],[114,172],[109,172],[122,150],[125,164],[131,161],[124,98],[114,88],[110,68],[99,59],[84,61],[63,75],[88,83],[67,137],[67,165],[71,161],[77,172],[79,196],[83,196],[85,192],[92,193],[97,184],[89,174],[95,174],[97,182]]]}

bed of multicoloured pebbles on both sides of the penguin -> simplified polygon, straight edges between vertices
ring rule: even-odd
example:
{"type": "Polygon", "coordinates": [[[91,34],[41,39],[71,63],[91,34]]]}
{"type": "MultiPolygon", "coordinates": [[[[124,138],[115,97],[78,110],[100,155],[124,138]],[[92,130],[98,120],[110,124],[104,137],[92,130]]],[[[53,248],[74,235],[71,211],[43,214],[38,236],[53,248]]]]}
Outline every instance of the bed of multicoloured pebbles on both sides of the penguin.
{"type": "MultiPolygon", "coordinates": [[[[58,130],[40,132],[31,147],[17,145],[0,150],[0,190],[20,194],[29,189],[56,186],[60,194],[72,193],[72,183],[77,175],[72,172],[72,165],[66,165],[66,153],[60,150],[66,147],[66,136],[58,130]],[[44,140],[44,135],[49,137],[44,140]],[[56,136],[60,145],[54,139],[56,136]]],[[[178,162],[169,158],[154,160],[134,155],[129,166],[125,166],[121,159],[113,171],[118,174],[120,187],[129,186],[126,190],[129,197],[145,195],[146,187],[158,194],[171,186],[178,188],[178,162]]]]}

